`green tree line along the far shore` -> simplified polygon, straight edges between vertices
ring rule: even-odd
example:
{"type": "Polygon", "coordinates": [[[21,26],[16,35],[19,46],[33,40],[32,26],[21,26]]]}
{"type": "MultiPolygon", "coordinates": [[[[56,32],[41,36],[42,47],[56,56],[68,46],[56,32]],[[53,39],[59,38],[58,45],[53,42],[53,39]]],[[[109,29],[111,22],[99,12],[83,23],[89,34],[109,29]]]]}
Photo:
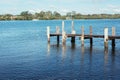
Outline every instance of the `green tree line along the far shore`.
{"type": "Polygon", "coordinates": [[[54,19],[118,19],[120,14],[87,14],[83,15],[75,11],[61,15],[57,11],[40,11],[34,14],[29,11],[23,11],[19,15],[3,14],[0,20],[54,20],[54,19]]]}

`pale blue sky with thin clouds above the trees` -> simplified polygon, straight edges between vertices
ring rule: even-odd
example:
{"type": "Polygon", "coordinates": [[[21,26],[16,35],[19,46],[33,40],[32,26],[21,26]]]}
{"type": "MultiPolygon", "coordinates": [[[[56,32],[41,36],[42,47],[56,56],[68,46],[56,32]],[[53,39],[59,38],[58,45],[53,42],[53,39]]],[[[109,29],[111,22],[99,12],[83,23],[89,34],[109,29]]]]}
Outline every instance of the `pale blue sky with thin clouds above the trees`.
{"type": "Polygon", "coordinates": [[[120,14],[120,0],[1,0],[0,14],[20,14],[40,11],[61,14],[76,11],[81,14],[120,14]]]}

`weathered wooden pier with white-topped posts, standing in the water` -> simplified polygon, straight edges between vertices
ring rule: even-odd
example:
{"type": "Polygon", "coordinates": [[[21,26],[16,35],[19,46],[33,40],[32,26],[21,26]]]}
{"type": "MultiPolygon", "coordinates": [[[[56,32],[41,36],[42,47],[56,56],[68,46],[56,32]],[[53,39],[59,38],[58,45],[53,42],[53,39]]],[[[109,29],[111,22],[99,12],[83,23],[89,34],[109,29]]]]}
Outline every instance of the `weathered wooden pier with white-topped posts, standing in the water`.
{"type": "Polygon", "coordinates": [[[84,34],[84,27],[81,27],[81,34],[76,34],[74,30],[74,22],[72,21],[72,28],[71,33],[67,34],[64,30],[64,21],[62,22],[62,33],[60,33],[59,27],[56,27],[56,33],[50,33],[50,27],[47,27],[47,38],[48,42],[50,42],[50,37],[56,36],[57,37],[57,44],[60,42],[60,36],[62,36],[62,43],[66,44],[66,39],[71,38],[71,43],[75,44],[75,38],[80,37],[81,39],[81,46],[84,46],[84,40],[89,39],[90,46],[93,45],[93,38],[104,38],[104,47],[108,48],[108,41],[112,41],[112,48],[115,47],[115,40],[120,39],[120,36],[115,35],[115,27],[112,27],[112,34],[108,35],[108,28],[104,28],[104,35],[95,35],[92,34],[92,26],[89,28],[89,34],[84,34]]]}

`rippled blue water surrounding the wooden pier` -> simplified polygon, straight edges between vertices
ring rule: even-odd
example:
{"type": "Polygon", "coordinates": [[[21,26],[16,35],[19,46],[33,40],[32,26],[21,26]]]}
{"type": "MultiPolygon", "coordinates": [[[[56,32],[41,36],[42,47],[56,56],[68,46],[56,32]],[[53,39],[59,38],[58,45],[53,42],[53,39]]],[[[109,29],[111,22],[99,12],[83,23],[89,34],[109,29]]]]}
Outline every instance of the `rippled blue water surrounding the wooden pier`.
{"type": "MultiPolygon", "coordinates": [[[[111,41],[108,50],[104,49],[104,39],[94,39],[93,47],[89,40],[81,47],[79,37],[71,45],[56,44],[56,37],[47,43],[46,27],[55,33],[61,28],[61,20],[41,21],[0,21],[0,80],[119,80],[120,79],[120,40],[116,40],[113,51],[111,41]]],[[[74,28],[81,33],[104,34],[105,27],[115,26],[120,35],[120,19],[75,20],[74,28]]],[[[61,31],[61,30],[60,30],[61,31]]],[[[65,31],[71,33],[71,21],[65,21],[65,31]]]]}

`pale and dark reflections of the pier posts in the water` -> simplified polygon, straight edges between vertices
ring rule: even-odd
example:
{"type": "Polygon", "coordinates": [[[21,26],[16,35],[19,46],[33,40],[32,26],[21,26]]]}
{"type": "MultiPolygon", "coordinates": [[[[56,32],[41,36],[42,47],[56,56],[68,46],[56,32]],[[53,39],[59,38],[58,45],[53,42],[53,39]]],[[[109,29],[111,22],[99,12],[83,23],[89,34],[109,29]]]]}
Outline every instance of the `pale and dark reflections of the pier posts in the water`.
{"type": "MultiPolygon", "coordinates": [[[[51,45],[50,43],[48,43],[48,46],[47,46],[47,56],[50,56],[50,51],[51,51],[52,48],[54,48],[54,50],[56,50],[57,53],[61,52],[60,49],[62,49],[62,52],[61,52],[62,53],[62,60],[64,61],[66,56],[68,56],[67,55],[67,53],[68,53],[67,51],[69,51],[69,52],[71,52],[71,62],[72,62],[73,59],[75,58],[74,55],[77,54],[76,53],[77,52],[76,51],[77,50],[76,44],[71,44],[71,48],[67,48],[67,47],[68,46],[63,45],[63,44],[61,46],[60,44],[51,45]]],[[[96,49],[94,48],[94,50],[96,50],[96,49]]],[[[90,46],[90,47],[81,46],[80,52],[81,52],[80,53],[81,54],[80,58],[81,58],[82,64],[84,63],[84,56],[85,56],[86,52],[89,53],[89,61],[90,61],[90,63],[92,63],[92,56],[93,56],[93,54],[95,54],[94,51],[93,51],[93,46],[90,46]]],[[[102,52],[102,51],[100,51],[100,52],[102,52]]],[[[108,48],[104,48],[104,54],[100,53],[100,54],[104,55],[104,64],[105,65],[108,64],[108,61],[109,61],[108,60],[109,59],[109,54],[108,53],[109,53],[109,49],[108,48]]],[[[115,61],[115,48],[111,49],[111,60],[112,60],[112,62],[115,61]]]]}

